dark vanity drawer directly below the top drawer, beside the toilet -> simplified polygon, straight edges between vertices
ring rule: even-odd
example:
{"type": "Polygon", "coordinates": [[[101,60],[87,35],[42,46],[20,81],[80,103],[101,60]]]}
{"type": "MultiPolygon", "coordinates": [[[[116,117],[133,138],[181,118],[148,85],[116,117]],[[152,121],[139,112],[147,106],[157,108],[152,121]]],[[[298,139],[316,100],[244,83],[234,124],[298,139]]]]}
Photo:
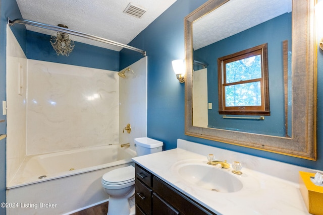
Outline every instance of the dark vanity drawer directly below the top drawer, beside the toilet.
{"type": "Polygon", "coordinates": [[[136,205],[146,214],[151,214],[151,195],[152,190],[136,179],[136,205]]]}

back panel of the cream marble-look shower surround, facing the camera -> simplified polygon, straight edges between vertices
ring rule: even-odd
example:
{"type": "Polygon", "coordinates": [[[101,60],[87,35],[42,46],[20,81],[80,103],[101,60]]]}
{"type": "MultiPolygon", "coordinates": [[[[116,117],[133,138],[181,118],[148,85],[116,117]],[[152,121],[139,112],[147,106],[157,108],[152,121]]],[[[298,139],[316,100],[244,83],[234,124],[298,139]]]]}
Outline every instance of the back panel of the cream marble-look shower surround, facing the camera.
{"type": "Polygon", "coordinates": [[[115,71],[28,60],[27,155],[119,143],[115,71]]]}

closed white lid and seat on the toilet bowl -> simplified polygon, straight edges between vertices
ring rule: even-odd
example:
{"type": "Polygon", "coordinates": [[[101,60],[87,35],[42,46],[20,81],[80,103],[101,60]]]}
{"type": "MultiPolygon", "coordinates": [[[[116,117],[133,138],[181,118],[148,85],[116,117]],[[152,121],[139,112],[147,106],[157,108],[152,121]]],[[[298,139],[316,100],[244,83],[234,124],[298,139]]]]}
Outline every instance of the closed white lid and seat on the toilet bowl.
{"type": "Polygon", "coordinates": [[[135,168],[133,166],[121,167],[102,176],[102,182],[105,184],[117,185],[135,180],[135,168]]]}

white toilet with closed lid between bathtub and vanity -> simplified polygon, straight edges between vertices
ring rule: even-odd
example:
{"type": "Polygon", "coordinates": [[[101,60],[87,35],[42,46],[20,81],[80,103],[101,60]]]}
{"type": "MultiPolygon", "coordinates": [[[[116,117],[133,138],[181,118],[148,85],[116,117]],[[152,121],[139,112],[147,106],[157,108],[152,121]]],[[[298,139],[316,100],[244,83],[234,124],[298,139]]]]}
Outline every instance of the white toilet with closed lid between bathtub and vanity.
{"type": "MultiPolygon", "coordinates": [[[[137,156],[161,152],[163,142],[149,137],[135,138],[137,156]]],[[[108,215],[135,214],[133,196],[135,194],[135,168],[121,167],[105,173],[101,179],[102,187],[109,194],[108,215]],[[132,205],[131,205],[132,204],[132,205]]]]}

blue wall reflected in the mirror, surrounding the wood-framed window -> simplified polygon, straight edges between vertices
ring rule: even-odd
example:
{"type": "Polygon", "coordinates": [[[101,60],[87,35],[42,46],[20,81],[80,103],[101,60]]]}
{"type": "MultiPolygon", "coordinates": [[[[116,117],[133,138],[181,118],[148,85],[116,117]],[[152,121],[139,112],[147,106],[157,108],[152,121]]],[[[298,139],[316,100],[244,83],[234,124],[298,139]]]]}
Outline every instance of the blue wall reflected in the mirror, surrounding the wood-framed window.
{"type": "MultiPolygon", "coordinates": [[[[194,60],[208,63],[208,127],[285,136],[283,41],[292,41],[292,14],[283,14],[234,36],[194,51],[194,60]],[[218,108],[218,58],[267,43],[271,115],[264,120],[224,119],[218,108]]],[[[206,104],[205,104],[206,105],[206,104]]],[[[289,125],[291,126],[291,121],[289,125]]]]}

